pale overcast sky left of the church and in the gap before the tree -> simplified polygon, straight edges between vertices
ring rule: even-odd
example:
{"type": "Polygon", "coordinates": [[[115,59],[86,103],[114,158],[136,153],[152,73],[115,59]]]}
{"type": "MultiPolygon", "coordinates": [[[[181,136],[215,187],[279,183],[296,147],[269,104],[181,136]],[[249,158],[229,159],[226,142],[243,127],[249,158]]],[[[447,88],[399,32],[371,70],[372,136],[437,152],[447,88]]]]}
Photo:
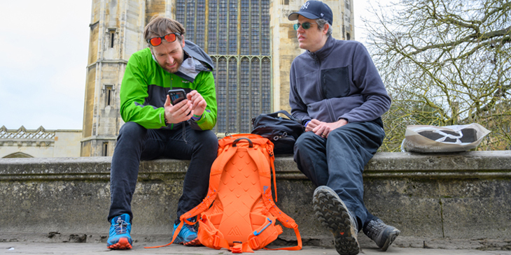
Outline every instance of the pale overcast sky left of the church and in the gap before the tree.
{"type": "MultiPolygon", "coordinates": [[[[356,40],[367,0],[354,0],[356,40]]],[[[90,0],[0,3],[0,126],[82,129],[90,0]]]]}

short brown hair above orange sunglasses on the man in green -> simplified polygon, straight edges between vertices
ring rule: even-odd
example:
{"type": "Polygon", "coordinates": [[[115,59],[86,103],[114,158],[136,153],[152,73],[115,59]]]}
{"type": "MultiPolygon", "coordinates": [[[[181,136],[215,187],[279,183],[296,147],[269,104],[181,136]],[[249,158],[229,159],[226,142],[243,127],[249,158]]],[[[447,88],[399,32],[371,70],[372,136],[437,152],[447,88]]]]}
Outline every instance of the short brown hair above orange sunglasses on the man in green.
{"type": "Polygon", "coordinates": [[[176,20],[169,19],[168,17],[162,17],[155,15],[151,18],[146,28],[144,28],[144,40],[147,42],[149,39],[155,36],[165,36],[170,33],[179,33],[181,36],[176,36],[179,42],[183,41],[185,35],[185,27],[183,24],[176,20]]]}

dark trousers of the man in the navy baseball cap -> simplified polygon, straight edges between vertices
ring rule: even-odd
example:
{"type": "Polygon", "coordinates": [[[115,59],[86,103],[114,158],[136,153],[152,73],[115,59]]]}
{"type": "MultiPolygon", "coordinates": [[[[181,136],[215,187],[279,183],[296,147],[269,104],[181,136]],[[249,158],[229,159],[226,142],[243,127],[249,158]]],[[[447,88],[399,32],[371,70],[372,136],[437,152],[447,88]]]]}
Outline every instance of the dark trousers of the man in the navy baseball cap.
{"type": "Polygon", "coordinates": [[[383,143],[385,132],[374,122],[353,122],[321,138],[305,132],[295,143],[298,169],[318,186],[333,189],[358,221],[358,231],[376,219],[365,207],[362,173],[383,143]]]}

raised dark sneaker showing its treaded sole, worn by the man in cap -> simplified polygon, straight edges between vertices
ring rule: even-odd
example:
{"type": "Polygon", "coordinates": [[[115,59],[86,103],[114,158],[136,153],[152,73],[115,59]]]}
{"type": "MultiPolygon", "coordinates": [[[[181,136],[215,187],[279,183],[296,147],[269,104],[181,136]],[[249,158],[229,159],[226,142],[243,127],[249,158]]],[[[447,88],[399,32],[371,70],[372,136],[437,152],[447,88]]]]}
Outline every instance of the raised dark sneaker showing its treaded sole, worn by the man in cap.
{"type": "Polygon", "coordinates": [[[318,187],[314,191],[312,205],[321,225],[334,235],[337,252],[341,255],[358,254],[360,245],[356,221],[335,191],[326,186],[318,187]]]}

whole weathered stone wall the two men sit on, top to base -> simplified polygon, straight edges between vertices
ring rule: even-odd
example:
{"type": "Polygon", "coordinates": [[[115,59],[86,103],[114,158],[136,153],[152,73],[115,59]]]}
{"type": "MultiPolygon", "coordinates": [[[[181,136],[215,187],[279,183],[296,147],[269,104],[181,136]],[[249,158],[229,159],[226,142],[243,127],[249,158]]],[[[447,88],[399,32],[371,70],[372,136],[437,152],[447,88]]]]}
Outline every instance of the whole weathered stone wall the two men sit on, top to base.
{"type": "MultiPolygon", "coordinates": [[[[110,157],[0,159],[0,240],[13,235],[22,240],[19,233],[30,232],[104,241],[110,162],[110,157]]],[[[147,240],[169,235],[187,168],[188,161],[141,162],[132,203],[134,236],[147,240]]],[[[330,234],[310,213],[311,182],[291,156],[277,156],[275,168],[277,205],[297,221],[303,238],[332,245],[330,234]]],[[[377,153],[364,178],[367,208],[402,231],[397,245],[509,246],[511,226],[503,223],[511,221],[511,151],[377,153]]],[[[292,241],[293,235],[285,230],[282,240],[292,241]]]]}

